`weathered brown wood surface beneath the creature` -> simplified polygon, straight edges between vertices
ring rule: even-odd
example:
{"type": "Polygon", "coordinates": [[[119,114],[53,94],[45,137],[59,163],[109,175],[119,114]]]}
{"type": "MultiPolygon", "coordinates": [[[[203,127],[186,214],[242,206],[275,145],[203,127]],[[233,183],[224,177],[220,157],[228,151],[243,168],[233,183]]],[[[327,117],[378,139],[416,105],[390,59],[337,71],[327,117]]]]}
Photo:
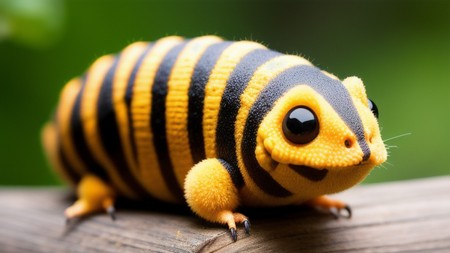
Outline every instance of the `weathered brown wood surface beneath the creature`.
{"type": "Polygon", "coordinates": [[[115,222],[99,214],[66,226],[68,195],[0,188],[0,252],[450,252],[450,177],[339,194],[353,207],[350,220],[304,207],[243,210],[252,233],[239,228],[236,243],[187,208],[156,202],[122,203],[115,222]]]}

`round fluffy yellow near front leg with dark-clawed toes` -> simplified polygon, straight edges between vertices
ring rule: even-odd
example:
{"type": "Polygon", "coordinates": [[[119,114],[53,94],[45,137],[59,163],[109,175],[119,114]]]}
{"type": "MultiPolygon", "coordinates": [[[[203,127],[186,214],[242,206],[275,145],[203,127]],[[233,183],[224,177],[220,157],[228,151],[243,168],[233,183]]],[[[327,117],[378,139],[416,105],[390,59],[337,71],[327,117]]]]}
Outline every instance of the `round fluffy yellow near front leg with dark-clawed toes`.
{"type": "Polygon", "coordinates": [[[234,212],[239,205],[239,178],[239,170],[224,160],[206,159],[189,171],[184,183],[192,211],[205,220],[227,224],[234,241],[236,223],[243,223],[246,233],[250,232],[248,218],[234,212]]]}

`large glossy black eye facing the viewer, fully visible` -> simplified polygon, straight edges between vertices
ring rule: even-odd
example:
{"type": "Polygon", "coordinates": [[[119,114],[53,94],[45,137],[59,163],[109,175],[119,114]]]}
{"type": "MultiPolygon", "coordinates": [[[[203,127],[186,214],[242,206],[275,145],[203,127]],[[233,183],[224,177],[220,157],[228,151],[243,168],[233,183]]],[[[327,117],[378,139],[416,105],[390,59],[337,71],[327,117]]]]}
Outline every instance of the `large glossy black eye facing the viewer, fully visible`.
{"type": "Polygon", "coordinates": [[[308,107],[294,107],[283,120],[283,133],[295,144],[306,144],[319,134],[319,120],[308,107]]]}

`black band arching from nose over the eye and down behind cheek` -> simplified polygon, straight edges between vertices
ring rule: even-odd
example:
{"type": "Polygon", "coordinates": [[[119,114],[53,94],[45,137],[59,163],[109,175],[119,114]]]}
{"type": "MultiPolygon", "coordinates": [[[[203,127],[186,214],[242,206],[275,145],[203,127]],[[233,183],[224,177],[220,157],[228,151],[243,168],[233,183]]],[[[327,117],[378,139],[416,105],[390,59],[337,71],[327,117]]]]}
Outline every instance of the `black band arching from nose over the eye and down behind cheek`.
{"type": "Polygon", "coordinates": [[[340,81],[324,75],[316,67],[307,65],[295,66],[283,71],[269,82],[250,109],[242,141],[242,156],[250,177],[264,192],[277,197],[287,197],[292,193],[278,184],[267,171],[261,168],[256,160],[257,131],[274,103],[289,89],[302,84],[310,86],[321,94],[355,133],[358,142],[365,142],[361,119],[353,106],[350,94],[340,81]]]}

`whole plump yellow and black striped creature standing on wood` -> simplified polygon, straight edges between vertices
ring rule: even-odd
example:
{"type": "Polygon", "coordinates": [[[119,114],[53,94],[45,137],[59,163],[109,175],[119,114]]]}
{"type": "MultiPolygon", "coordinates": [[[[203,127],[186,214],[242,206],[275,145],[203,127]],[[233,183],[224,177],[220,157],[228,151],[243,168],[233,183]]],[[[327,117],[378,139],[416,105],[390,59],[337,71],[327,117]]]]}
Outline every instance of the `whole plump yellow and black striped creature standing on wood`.
{"type": "Polygon", "coordinates": [[[377,116],[357,77],[256,42],[172,36],[96,60],[64,87],[42,137],[77,188],[68,219],[114,218],[117,196],[157,198],[187,202],[236,240],[236,224],[250,230],[240,205],[350,216],[326,194],[386,160],[377,116]]]}

